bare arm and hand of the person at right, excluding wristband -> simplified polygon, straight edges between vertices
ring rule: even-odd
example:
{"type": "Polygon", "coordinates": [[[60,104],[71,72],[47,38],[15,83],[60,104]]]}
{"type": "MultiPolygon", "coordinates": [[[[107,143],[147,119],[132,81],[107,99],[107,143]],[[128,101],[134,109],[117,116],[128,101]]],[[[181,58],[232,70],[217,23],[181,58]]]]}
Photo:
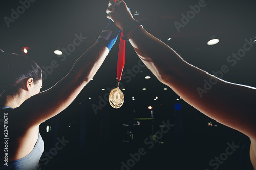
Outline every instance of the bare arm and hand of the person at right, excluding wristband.
{"type": "MultiPolygon", "coordinates": [[[[134,19],[127,11],[126,4],[119,2],[115,10],[108,8],[112,12],[108,17],[123,30],[134,19]]],[[[143,28],[135,29],[127,38],[153,74],[187,103],[208,117],[256,138],[255,88],[226,82],[188,64],[172,48],[143,28]],[[203,89],[204,80],[209,81],[210,78],[217,84],[200,96],[198,88],[203,89]]]]}

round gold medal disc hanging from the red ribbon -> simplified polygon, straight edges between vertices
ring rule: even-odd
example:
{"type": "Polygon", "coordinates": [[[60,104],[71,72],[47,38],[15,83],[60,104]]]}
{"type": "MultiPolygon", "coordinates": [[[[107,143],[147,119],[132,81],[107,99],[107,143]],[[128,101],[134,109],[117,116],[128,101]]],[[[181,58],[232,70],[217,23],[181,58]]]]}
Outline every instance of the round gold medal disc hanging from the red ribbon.
{"type": "Polygon", "coordinates": [[[111,90],[109,95],[109,102],[110,105],[115,109],[118,109],[123,105],[124,95],[123,92],[119,89],[119,87],[111,90]]]}

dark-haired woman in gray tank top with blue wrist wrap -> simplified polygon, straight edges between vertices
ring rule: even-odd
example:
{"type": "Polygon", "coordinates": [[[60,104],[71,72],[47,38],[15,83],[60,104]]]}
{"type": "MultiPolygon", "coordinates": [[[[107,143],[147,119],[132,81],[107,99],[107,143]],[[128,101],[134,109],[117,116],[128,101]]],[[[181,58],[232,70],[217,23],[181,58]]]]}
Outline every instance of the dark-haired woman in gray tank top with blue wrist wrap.
{"type": "Polygon", "coordinates": [[[39,125],[57,115],[93,78],[115,44],[120,29],[112,21],[82,54],[70,72],[50,89],[41,92],[42,71],[27,57],[1,53],[0,107],[4,141],[0,169],[37,169],[44,150],[39,125]],[[2,158],[3,158],[2,157],[2,158]]]}

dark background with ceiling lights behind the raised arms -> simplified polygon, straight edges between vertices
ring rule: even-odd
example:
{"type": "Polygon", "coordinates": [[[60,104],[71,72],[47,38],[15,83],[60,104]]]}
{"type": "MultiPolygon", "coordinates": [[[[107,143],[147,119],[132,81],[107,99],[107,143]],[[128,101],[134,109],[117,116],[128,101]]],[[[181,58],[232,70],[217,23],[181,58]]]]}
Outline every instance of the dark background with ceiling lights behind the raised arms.
{"type": "MultiPolygon", "coordinates": [[[[132,14],[135,11],[139,13],[134,18],[148,32],[176,50],[184,60],[210,73],[227,65],[229,72],[223,75],[224,80],[255,87],[255,47],[246,52],[235,66],[227,62],[228,56],[243,48],[244,39],[249,40],[256,35],[255,1],[205,1],[206,6],[178,32],[174,22],[181,22],[181,14],[186,15],[191,10],[189,6],[198,5],[198,2],[126,1],[132,14]],[[220,42],[207,45],[209,38],[214,35],[220,42]],[[167,41],[168,38],[172,39],[167,41]]],[[[8,53],[20,54],[23,47],[28,47],[27,56],[41,67],[50,66],[53,60],[57,61],[59,66],[47,75],[42,90],[50,88],[68,74],[76,59],[97,40],[108,23],[105,12],[108,1],[37,0],[30,3],[30,7],[8,27],[4,17],[11,18],[11,9],[17,11],[20,5],[19,1],[1,1],[0,48],[8,53]],[[53,51],[58,47],[67,48],[73,43],[75,34],[80,33],[87,39],[66,60],[61,61],[53,51]]],[[[108,103],[103,102],[102,110],[94,112],[92,106],[100,105],[100,96],[104,98],[109,92],[107,89],[115,87],[118,42],[119,39],[94,80],[66,110],[55,117],[58,124],[54,123],[54,119],[41,124],[40,133],[44,138],[46,152],[49,152],[54,143],[54,130],[57,130],[55,138],[57,134],[60,139],[64,137],[70,141],[44,168],[121,169],[121,162],[130,159],[130,153],[138,153],[139,148],[148,147],[144,139],[152,133],[150,121],[141,121],[141,126],[127,127],[123,124],[128,124],[134,117],[150,118],[148,106],[152,106],[155,133],[163,120],[174,124],[174,105],[179,102],[182,104],[183,115],[183,147],[178,147],[180,142],[176,140],[174,127],[164,134],[160,141],[163,144],[158,143],[152,149],[147,149],[147,154],[131,169],[214,169],[209,161],[219,157],[228,147],[227,142],[233,141],[239,145],[239,149],[228,156],[218,169],[239,169],[239,152],[246,136],[208,118],[182,99],[177,101],[179,96],[159,82],[146,67],[141,68],[131,81],[122,79],[122,86],[126,90],[123,91],[125,102],[120,109],[111,108],[108,103]],[[151,76],[151,79],[144,79],[145,76],[151,76]],[[102,91],[102,88],[106,90],[102,91]],[[146,90],[143,91],[142,88],[146,90]],[[168,90],[163,90],[164,88],[168,90]],[[158,99],[154,101],[156,96],[158,99]],[[85,120],[82,124],[86,129],[85,135],[80,135],[81,120],[85,120]],[[207,122],[212,122],[217,127],[208,127],[207,122]],[[47,125],[52,127],[48,133],[47,125]],[[123,142],[131,140],[127,131],[133,133],[134,139],[131,142],[123,142]],[[85,136],[84,145],[80,141],[81,136],[85,136]]],[[[132,70],[138,61],[132,46],[127,43],[124,72],[132,70]]]]}

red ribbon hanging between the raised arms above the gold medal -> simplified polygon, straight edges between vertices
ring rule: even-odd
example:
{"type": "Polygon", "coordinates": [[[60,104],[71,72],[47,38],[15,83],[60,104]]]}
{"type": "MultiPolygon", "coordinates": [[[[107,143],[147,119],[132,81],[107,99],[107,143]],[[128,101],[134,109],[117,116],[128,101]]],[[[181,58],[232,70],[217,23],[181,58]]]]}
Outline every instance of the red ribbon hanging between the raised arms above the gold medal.
{"type": "Polygon", "coordinates": [[[125,41],[122,39],[123,32],[121,32],[121,38],[119,43],[118,59],[117,59],[117,81],[121,81],[123,67],[125,64],[125,41]]]}

